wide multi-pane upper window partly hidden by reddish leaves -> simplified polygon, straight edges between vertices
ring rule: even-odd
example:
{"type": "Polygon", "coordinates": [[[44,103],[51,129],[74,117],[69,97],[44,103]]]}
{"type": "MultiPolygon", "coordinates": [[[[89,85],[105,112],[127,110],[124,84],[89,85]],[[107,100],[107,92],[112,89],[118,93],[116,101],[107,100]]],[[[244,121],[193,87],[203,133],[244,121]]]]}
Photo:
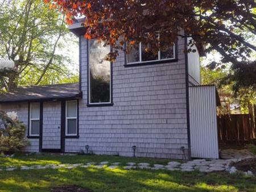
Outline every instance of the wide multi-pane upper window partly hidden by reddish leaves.
{"type": "Polygon", "coordinates": [[[175,45],[160,50],[156,54],[153,52],[146,52],[146,45],[142,43],[139,43],[138,47],[138,49],[132,49],[131,52],[127,54],[127,64],[175,59],[175,45]]]}

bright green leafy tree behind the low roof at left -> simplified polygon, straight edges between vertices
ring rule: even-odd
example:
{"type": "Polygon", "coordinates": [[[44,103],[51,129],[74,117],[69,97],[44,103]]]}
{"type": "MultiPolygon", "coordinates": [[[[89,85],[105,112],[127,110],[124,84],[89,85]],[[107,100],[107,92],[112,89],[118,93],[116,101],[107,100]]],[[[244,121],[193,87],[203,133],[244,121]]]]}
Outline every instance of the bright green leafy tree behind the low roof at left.
{"type": "Polygon", "coordinates": [[[0,89],[53,84],[68,77],[66,64],[72,62],[57,52],[71,42],[68,32],[63,15],[40,0],[0,0],[0,60],[15,64],[15,73],[0,77],[0,89]]]}

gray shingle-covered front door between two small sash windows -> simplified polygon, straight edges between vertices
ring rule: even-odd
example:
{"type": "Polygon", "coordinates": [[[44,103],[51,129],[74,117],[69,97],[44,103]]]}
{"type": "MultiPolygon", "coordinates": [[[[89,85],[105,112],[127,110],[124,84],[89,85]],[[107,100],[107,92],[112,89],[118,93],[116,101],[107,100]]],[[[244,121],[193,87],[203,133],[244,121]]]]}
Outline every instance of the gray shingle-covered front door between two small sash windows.
{"type": "Polygon", "coordinates": [[[61,102],[43,102],[43,152],[61,152],[61,102]]]}

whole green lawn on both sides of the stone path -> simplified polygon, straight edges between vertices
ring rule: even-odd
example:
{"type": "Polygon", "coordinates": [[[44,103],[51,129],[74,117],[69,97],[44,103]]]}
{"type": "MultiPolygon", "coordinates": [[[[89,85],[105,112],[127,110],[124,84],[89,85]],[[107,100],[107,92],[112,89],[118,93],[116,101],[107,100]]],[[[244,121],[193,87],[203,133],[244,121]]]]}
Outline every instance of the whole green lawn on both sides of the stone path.
{"type": "MultiPolygon", "coordinates": [[[[85,162],[150,162],[169,160],[115,156],[32,155],[0,157],[0,167],[85,162]]],[[[0,191],[50,191],[53,186],[77,185],[92,191],[256,191],[256,179],[228,173],[183,173],[167,170],[75,168],[0,172],[0,191]]]]}

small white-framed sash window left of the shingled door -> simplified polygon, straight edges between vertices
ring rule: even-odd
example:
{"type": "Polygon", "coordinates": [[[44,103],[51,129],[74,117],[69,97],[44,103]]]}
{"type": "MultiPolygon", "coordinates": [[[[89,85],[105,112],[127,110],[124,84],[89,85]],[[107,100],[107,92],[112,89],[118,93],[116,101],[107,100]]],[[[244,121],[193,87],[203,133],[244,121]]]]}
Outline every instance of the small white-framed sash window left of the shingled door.
{"type": "Polygon", "coordinates": [[[40,103],[30,103],[30,136],[39,136],[40,103]]]}

